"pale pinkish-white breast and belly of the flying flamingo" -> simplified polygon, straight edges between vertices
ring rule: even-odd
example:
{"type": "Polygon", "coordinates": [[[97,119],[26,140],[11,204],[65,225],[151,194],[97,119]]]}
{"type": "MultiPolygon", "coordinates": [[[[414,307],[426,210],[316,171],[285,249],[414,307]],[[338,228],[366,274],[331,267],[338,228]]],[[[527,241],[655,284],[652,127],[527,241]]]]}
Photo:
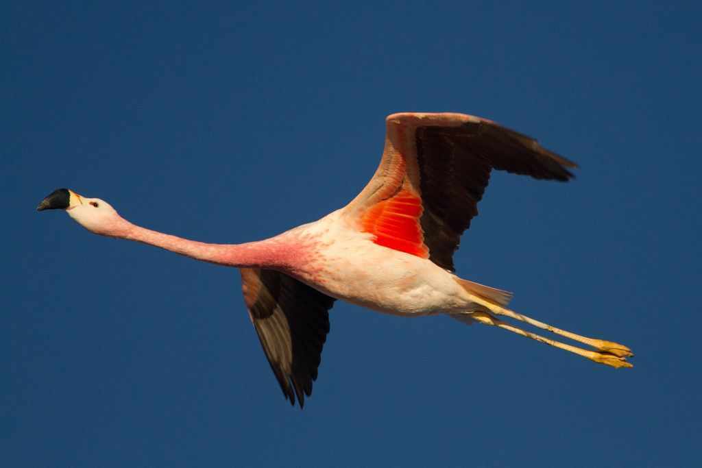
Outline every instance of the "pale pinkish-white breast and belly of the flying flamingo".
{"type": "Polygon", "coordinates": [[[425,258],[378,245],[339,211],[284,235],[306,252],[287,273],[331,297],[399,315],[459,312],[470,304],[456,276],[425,258]]]}

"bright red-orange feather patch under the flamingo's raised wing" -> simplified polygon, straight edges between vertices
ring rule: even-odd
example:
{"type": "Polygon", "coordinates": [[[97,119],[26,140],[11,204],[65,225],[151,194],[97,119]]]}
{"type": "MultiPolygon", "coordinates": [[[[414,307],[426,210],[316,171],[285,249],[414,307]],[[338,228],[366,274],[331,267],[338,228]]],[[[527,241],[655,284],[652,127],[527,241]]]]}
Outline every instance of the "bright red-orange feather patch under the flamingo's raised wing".
{"type": "Polygon", "coordinates": [[[429,249],[424,245],[424,235],[419,225],[422,210],[422,199],[402,189],[364,213],[362,231],[376,236],[374,242],[379,246],[429,258],[429,249]]]}

